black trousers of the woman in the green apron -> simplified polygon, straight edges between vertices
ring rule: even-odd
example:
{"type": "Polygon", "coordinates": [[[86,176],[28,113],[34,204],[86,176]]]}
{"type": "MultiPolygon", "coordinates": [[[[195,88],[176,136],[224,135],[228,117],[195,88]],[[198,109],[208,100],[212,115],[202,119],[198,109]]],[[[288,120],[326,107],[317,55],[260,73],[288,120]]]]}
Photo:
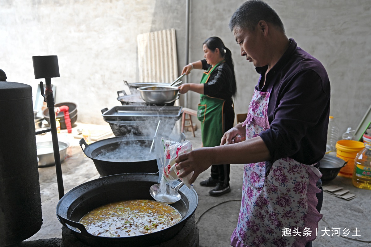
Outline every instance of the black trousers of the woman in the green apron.
{"type": "MultiPolygon", "coordinates": [[[[226,101],[223,107],[223,125],[225,133],[227,130],[233,128],[234,124],[234,110],[232,107],[231,101],[226,101]]],[[[224,185],[229,185],[229,173],[230,173],[230,164],[224,165],[212,165],[211,166],[211,177],[219,180],[219,183],[224,185]]]]}

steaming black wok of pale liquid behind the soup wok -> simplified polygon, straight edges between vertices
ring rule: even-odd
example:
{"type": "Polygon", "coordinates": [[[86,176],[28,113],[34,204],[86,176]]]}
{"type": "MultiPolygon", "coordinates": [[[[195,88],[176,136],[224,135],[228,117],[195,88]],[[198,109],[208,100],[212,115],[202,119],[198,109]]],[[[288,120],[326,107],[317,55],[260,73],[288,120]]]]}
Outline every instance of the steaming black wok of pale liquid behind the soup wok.
{"type": "Polygon", "coordinates": [[[107,161],[97,156],[103,152],[109,152],[112,156],[118,156],[122,153],[120,146],[130,146],[131,144],[140,144],[144,151],[150,152],[153,137],[150,136],[118,136],[107,138],[100,141],[95,141],[91,144],[86,144],[84,138],[80,140],[80,146],[85,155],[91,158],[94,162],[98,173],[104,177],[121,173],[156,173],[158,172],[157,161],[153,152],[152,159],[141,159],[138,161],[122,162],[122,161],[107,161]],[[83,148],[84,146],[85,148],[83,148]],[[121,151],[119,151],[121,150],[121,151]]]}

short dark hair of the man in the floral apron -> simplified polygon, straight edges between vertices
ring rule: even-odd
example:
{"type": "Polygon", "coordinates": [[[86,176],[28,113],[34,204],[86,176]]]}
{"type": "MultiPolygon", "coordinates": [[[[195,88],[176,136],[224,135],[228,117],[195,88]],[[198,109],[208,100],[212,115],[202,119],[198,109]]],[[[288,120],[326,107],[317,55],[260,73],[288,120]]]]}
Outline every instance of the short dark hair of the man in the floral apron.
{"type": "Polygon", "coordinates": [[[283,27],[283,23],[276,11],[262,0],[249,0],[244,2],[232,14],[228,28],[230,31],[233,31],[234,27],[255,30],[260,20],[272,23],[285,33],[285,27],[283,27]]]}

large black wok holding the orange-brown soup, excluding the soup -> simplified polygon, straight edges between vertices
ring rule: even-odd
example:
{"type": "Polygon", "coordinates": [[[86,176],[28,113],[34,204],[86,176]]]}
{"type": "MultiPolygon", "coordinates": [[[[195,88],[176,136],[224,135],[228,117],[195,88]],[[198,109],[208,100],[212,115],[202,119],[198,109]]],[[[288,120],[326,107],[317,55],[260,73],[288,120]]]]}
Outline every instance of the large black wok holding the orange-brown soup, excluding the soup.
{"type": "Polygon", "coordinates": [[[177,224],[154,233],[127,237],[94,236],[78,223],[89,211],[122,200],[148,199],[150,187],[158,182],[158,174],[127,173],[101,177],[68,191],[58,202],[57,218],[70,228],[79,240],[96,247],[153,246],[173,238],[192,216],[198,204],[196,191],[183,186],[181,200],[171,204],[183,217],[177,224]],[[76,229],[78,228],[78,230],[76,229]]]}

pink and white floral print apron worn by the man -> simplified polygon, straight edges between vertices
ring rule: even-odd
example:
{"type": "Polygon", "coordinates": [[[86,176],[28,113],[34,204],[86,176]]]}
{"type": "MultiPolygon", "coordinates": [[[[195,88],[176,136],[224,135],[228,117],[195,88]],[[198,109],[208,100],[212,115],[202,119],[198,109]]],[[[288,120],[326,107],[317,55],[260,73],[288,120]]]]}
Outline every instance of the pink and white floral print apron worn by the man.
{"type": "MultiPolygon", "coordinates": [[[[243,123],[246,139],[269,128],[269,96],[255,89],[243,123]]],[[[322,218],[315,208],[316,193],[321,192],[316,182],[322,174],[313,165],[281,158],[266,175],[265,162],[244,164],[241,208],[231,245],[298,247],[314,240],[322,218]],[[290,229],[291,236],[283,234],[284,229],[290,229]]]]}

